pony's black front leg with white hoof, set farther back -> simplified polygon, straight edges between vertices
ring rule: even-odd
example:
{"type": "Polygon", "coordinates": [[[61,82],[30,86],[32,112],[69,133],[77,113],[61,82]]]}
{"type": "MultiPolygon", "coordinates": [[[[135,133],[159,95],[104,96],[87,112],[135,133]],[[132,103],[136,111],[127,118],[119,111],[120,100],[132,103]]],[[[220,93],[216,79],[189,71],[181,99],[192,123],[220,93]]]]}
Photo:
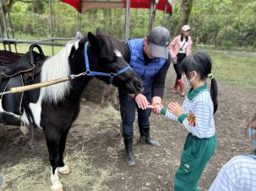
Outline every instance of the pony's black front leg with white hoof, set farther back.
{"type": "MultiPolygon", "coordinates": [[[[70,128],[68,128],[69,130],[70,128]]],[[[58,166],[58,172],[64,175],[68,175],[71,170],[68,167],[68,165],[64,164],[63,162],[63,153],[65,151],[65,146],[66,146],[66,139],[68,135],[68,130],[66,130],[63,135],[61,136],[60,144],[59,144],[59,166],[58,166]]]]}

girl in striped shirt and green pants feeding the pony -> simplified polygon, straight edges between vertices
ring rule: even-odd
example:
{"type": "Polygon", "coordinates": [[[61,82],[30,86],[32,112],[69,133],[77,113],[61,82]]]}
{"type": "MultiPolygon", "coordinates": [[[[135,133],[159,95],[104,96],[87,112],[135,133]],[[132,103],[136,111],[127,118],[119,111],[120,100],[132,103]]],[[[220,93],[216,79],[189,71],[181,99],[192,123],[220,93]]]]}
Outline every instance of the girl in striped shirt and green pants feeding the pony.
{"type": "Polygon", "coordinates": [[[214,114],[218,107],[217,83],[211,73],[210,56],[198,52],[182,61],[181,70],[191,88],[182,103],[172,102],[161,109],[168,119],[179,121],[188,136],[185,141],[180,167],[174,177],[174,189],[199,190],[197,184],[204,167],[216,148],[214,114]],[[210,93],[206,79],[210,77],[210,93]]]}

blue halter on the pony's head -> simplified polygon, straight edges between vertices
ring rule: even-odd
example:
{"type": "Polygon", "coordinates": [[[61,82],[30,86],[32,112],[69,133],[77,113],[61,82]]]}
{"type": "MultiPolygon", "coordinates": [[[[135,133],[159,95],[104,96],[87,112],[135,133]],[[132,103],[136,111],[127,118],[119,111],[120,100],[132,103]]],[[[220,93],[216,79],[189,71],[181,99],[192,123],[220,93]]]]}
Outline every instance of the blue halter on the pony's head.
{"type": "Polygon", "coordinates": [[[130,66],[126,66],[123,69],[121,69],[120,71],[118,71],[117,73],[104,73],[104,72],[90,71],[89,59],[88,59],[88,54],[87,54],[88,44],[89,44],[89,42],[87,41],[84,45],[84,59],[85,59],[85,67],[86,67],[86,71],[84,72],[84,75],[87,75],[90,77],[92,77],[92,76],[110,77],[110,83],[112,83],[114,77],[116,77],[119,74],[122,74],[123,72],[126,72],[130,68],[130,66]]]}

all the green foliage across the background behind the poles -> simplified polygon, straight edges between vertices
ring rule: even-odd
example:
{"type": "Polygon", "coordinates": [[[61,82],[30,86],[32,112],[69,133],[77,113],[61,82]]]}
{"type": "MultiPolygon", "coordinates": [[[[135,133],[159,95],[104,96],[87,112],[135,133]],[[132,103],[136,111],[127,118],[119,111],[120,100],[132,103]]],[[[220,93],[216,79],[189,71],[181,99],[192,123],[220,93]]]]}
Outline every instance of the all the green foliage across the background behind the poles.
{"type": "MultiPolygon", "coordinates": [[[[7,3],[9,8],[12,6],[10,16],[17,38],[50,37],[48,1],[4,0],[3,2],[7,3]]],[[[52,0],[52,10],[53,35],[74,36],[78,29],[76,10],[68,4],[60,3],[59,0],[52,0]]],[[[175,30],[180,31],[182,24],[188,21],[193,41],[196,43],[256,47],[255,13],[255,0],[176,0],[172,17],[166,14],[162,22],[163,12],[157,11],[155,25],[162,24],[171,29],[171,34],[174,34],[175,30]],[[182,2],[188,3],[187,14],[181,8],[182,2]],[[189,11],[191,13],[188,19],[189,11]]],[[[143,37],[148,33],[149,14],[149,9],[131,9],[129,38],[143,37]]],[[[124,8],[87,11],[81,14],[81,33],[94,32],[97,27],[100,27],[107,34],[123,39],[124,16],[124,8]]]]}

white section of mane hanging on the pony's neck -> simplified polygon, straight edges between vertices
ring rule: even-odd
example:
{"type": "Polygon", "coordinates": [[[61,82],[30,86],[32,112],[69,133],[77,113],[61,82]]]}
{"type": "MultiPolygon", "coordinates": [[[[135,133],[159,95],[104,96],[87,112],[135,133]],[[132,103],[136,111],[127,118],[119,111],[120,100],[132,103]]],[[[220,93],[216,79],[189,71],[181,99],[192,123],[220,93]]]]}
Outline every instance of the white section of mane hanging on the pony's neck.
{"type": "MultiPolygon", "coordinates": [[[[60,50],[55,56],[47,59],[41,69],[41,82],[54,80],[60,77],[67,77],[70,75],[70,66],[68,56],[74,46],[78,49],[79,40],[73,40],[60,50]]],[[[62,82],[46,88],[41,88],[41,99],[47,102],[57,103],[70,90],[70,82],[62,82]]]]}

